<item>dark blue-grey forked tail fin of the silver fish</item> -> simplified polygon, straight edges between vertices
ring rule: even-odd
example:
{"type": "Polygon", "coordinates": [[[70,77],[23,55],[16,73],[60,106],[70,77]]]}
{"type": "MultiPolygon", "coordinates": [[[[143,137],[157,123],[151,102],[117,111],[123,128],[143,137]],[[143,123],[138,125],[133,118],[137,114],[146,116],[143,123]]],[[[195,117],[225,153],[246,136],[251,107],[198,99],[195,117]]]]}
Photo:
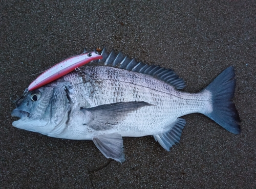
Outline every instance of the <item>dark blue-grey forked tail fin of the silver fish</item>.
{"type": "Polygon", "coordinates": [[[231,101],[234,97],[236,79],[232,66],[225,69],[204,90],[211,92],[212,112],[205,114],[210,119],[234,134],[240,133],[240,118],[236,106],[231,101]]]}

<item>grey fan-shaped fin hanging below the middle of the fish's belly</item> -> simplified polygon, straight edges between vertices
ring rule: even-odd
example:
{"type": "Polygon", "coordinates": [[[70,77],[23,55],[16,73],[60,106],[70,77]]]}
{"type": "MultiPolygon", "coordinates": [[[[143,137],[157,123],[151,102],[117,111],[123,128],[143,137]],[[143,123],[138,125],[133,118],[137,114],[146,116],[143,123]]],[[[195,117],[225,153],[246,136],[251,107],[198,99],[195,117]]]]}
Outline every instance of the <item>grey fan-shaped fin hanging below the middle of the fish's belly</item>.
{"type": "Polygon", "coordinates": [[[102,136],[94,137],[93,142],[106,158],[115,159],[120,161],[120,163],[125,160],[121,134],[104,134],[102,136]]]}

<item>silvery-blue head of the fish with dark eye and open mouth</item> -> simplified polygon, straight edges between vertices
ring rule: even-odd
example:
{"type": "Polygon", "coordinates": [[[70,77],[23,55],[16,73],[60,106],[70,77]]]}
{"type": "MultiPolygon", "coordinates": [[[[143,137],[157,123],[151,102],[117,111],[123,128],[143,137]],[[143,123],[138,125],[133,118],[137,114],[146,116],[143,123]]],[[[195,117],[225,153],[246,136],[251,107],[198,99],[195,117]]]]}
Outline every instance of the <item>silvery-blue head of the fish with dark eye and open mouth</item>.
{"type": "Polygon", "coordinates": [[[57,137],[65,129],[71,111],[71,99],[65,84],[49,84],[28,92],[16,102],[12,116],[14,127],[57,137]]]}

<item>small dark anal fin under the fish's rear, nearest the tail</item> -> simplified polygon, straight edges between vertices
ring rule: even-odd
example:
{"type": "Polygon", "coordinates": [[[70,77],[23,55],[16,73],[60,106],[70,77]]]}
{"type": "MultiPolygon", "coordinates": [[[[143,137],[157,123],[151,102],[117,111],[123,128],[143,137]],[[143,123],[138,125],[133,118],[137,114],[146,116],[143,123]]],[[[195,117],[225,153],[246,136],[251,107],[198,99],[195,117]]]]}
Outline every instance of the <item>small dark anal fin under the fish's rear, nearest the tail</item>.
{"type": "Polygon", "coordinates": [[[156,141],[167,151],[170,151],[175,143],[179,143],[182,129],[186,124],[186,120],[178,118],[167,132],[154,135],[156,141]]]}

